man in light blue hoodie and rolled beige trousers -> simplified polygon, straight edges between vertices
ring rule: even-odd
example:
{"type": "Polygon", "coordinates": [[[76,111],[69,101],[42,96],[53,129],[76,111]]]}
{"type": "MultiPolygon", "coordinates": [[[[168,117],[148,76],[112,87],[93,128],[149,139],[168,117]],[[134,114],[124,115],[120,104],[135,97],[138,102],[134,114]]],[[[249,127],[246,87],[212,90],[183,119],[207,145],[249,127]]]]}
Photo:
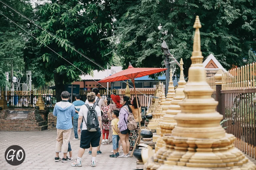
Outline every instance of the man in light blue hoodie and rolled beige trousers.
{"type": "Polygon", "coordinates": [[[63,91],[61,93],[61,102],[56,103],[53,115],[57,116],[57,136],[58,138],[63,137],[62,140],[56,142],[56,157],[55,162],[60,161],[59,152],[63,152],[62,162],[71,161],[67,157],[68,153],[68,142],[71,136],[72,125],[72,117],[75,115],[75,106],[68,102],[69,92],[63,91]],[[63,145],[62,145],[63,143],[63,145]]]}

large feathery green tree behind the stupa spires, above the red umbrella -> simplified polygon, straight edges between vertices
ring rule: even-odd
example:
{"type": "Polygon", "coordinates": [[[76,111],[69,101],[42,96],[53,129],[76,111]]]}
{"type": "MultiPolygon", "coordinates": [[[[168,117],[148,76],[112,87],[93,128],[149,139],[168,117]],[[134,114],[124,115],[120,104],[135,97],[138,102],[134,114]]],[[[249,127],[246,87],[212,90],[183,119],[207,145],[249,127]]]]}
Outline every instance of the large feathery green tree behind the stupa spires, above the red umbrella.
{"type": "Polygon", "coordinates": [[[112,1],[113,50],[137,67],[162,67],[165,40],[174,56],[184,61],[188,75],[193,48],[193,24],[202,23],[203,56],[213,53],[225,68],[255,61],[256,1],[254,0],[135,0],[112,1]]]}

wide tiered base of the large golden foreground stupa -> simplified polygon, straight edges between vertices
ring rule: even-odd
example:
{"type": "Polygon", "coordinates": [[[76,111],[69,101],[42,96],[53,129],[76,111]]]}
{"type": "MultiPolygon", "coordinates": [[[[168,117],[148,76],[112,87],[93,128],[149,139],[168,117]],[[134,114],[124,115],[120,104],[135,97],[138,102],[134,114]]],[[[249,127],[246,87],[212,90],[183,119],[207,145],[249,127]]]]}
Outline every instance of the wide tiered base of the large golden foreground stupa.
{"type": "Polygon", "coordinates": [[[220,139],[163,137],[166,146],[158,149],[144,169],[232,169],[256,170],[248,158],[234,147],[235,136],[226,133],[220,139]]]}

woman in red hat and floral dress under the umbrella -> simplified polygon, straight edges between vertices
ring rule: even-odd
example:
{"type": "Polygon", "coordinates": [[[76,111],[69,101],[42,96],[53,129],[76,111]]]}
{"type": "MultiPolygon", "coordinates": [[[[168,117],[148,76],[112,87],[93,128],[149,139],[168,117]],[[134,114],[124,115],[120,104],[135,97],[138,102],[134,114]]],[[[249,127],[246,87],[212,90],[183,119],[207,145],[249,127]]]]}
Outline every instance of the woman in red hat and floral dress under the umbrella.
{"type": "MultiPolygon", "coordinates": [[[[112,112],[113,112],[113,110],[118,110],[118,111],[120,111],[120,108],[122,107],[122,105],[120,104],[120,96],[118,96],[118,95],[111,95],[110,96],[111,97],[111,99],[112,99],[112,101],[114,102],[113,104],[110,104],[109,105],[109,108],[108,108],[108,119],[109,119],[109,125],[111,125],[111,120],[112,119],[114,119],[114,118],[112,118],[112,112]]],[[[108,137],[108,141],[109,141],[109,143],[111,143],[112,142],[112,128],[109,128],[109,137],[108,137]]]]}

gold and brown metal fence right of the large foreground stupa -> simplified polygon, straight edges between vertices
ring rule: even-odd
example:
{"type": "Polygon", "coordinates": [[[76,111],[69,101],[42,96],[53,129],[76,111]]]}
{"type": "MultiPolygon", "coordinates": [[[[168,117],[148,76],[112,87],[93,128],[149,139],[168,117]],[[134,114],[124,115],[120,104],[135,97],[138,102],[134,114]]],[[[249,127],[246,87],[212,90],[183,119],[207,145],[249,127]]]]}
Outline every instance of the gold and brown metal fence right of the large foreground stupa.
{"type": "Polygon", "coordinates": [[[235,147],[256,159],[256,64],[234,68],[222,74],[222,85],[207,78],[219,102],[217,111],[223,115],[222,126],[232,133],[235,147]]]}

